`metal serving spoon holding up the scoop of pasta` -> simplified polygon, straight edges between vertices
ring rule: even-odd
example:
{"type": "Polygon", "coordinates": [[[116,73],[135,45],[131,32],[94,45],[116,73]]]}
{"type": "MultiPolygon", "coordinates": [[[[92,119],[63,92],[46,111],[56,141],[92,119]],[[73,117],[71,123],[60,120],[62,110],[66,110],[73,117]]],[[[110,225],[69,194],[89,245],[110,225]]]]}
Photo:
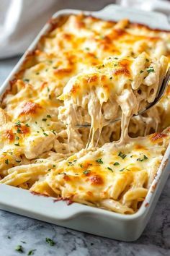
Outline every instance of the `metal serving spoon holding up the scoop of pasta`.
{"type": "MultiPolygon", "coordinates": [[[[165,76],[164,80],[162,81],[162,84],[161,84],[161,86],[159,88],[159,91],[158,91],[158,95],[156,96],[155,100],[151,104],[148,104],[148,106],[146,106],[145,109],[139,111],[138,114],[134,115],[134,116],[138,116],[138,115],[141,115],[141,114],[145,113],[149,108],[152,108],[153,106],[156,105],[156,103],[158,103],[158,101],[161,100],[161,98],[163,97],[163,95],[166,91],[166,88],[169,84],[169,80],[170,80],[170,67],[169,67],[168,71],[166,72],[166,76],[165,76]]],[[[114,123],[115,121],[118,121],[118,120],[120,120],[120,118],[110,121],[109,124],[112,124],[112,123],[114,123]]],[[[81,127],[87,127],[88,128],[88,127],[91,127],[91,124],[88,124],[88,123],[86,123],[86,124],[77,124],[76,127],[80,127],[80,128],[81,127]]]]}

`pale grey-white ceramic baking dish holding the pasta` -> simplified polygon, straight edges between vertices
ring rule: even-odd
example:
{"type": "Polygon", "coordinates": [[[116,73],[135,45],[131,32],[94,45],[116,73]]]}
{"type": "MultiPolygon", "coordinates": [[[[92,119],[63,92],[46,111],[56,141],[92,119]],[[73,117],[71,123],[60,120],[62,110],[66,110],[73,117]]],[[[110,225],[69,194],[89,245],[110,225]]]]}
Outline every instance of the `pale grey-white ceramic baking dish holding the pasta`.
{"type": "MultiPolygon", "coordinates": [[[[65,9],[56,12],[53,19],[61,17],[61,15],[79,14],[79,10],[65,9]]],[[[158,12],[143,12],[136,9],[125,9],[114,4],[109,5],[99,12],[84,12],[94,17],[104,20],[120,20],[128,18],[131,22],[139,22],[149,25],[153,28],[170,30],[170,25],[166,15],[158,12]]],[[[51,20],[50,20],[51,21],[51,20]]],[[[14,68],[12,73],[0,88],[0,95],[9,87],[9,80],[13,75],[28,52],[35,49],[41,35],[50,30],[51,22],[48,22],[41,30],[40,34],[26,51],[22,59],[14,68]]],[[[122,241],[134,241],[138,239],[145,229],[146,224],[155,208],[158,197],[164,187],[166,179],[169,175],[170,161],[170,145],[166,150],[161,166],[158,168],[158,175],[148,191],[148,195],[141,205],[137,213],[133,215],[122,215],[113,213],[108,210],[102,210],[87,205],[73,203],[67,205],[66,202],[55,202],[53,197],[43,197],[32,195],[29,191],[0,184],[0,208],[13,213],[18,213],[31,218],[37,218],[42,221],[55,223],[79,231],[85,231],[99,236],[106,236],[112,239],[122,241]]]]}

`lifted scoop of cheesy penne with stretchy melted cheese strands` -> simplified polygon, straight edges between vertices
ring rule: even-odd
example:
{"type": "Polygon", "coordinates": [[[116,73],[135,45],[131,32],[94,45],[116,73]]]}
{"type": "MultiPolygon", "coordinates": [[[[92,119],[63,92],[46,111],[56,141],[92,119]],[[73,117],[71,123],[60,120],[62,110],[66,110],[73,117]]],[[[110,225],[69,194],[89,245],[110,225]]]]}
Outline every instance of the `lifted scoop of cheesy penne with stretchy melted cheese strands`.
{"type": "Polygon", "coordinates": [[[58,97],[64,101],[58,117],[68,126],[68,138],[77,125],[90,123],[90,145],[94,146],[97,129],[100,135],[104,126],[122,115],[120,142],[127,142],[129,121],[156,98],[167,62],[164,56],[150,61],[145,53],[135,59],[109,57],[102,65],[72,77],[58,97]]]}

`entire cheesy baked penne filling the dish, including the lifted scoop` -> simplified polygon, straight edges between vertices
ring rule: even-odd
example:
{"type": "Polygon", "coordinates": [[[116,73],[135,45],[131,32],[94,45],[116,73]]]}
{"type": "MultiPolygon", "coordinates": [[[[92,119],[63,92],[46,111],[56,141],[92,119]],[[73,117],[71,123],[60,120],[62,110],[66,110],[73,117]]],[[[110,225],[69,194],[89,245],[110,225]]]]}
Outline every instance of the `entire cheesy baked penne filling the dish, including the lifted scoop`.
{"type": "Polygon", "coordinates": [[[151,110],[133,114],[156,97],[169,61],[170,33],[83,14],[51,20],[50,25],[1,99],[0,183],[58,200],[135,213],[169,142],[169,88],[151,110]],[[94,73],[97,80],[91,79],[94,73]],[[87,76],[89,83],[86,79],[83,83],[87,76]],[[111,90],[116,81],[116,89],[111,90]],[[94,101],[83,102],[89,88],[79,102],[72,97],[74,82],[80,89],[91,86],[97,95],[94,101]],[[109,94],[101,91],[103,85],[109,94]],[[121,98],[125,91],[135,95],[129,112],[129,95],[121,98]],[[90,113],[90,102],[98,116],[90,113]],[[78,122],[67,104],[76,108],[78,122]],[[121,121],[110,121],[123,115],[122,127],[127,119],[130,124],[121,137],[121,121]],[[92,132],[75,127],[84,121],[92,124],[92,132]]]}

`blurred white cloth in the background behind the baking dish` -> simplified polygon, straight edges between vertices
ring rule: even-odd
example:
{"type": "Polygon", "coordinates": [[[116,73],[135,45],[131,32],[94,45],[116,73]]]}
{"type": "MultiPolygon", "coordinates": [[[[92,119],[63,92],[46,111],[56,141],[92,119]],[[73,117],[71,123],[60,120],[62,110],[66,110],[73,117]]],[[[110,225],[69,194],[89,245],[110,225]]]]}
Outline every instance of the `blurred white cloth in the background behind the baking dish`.
{"type": "MultiPolygon", "coordinates": [[[[117,0],[117,4],[149,11],[156,2],[160,7],[160,1],[117,0]]],[[[114,0],[0,0],[0,59],[22,54],[45,22],[59,9],[92,11],[114,3],[114,0]]]]}

